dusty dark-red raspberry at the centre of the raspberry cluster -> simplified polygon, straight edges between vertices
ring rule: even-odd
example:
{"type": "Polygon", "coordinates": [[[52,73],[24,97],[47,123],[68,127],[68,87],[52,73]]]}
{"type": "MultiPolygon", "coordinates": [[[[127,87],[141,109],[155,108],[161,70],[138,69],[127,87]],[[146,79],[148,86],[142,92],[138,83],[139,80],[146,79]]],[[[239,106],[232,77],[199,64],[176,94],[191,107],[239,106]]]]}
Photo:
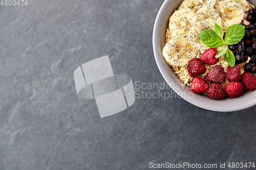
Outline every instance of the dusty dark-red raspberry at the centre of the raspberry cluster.
{"type": "Polygon", "coordinates": [[[225,79],[224,69],[219,65],[212,67],[208,74],[204,77],[205,81],[217,84],[223,83],[225,79]]]}

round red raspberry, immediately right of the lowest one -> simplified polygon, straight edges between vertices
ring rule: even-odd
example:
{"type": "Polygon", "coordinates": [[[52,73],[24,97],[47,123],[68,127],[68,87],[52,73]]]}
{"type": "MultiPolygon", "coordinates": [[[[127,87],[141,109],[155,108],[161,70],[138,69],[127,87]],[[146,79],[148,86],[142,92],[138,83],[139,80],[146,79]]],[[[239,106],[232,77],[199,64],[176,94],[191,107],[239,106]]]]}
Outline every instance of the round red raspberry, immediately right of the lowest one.
{"type": "Polygon", "coordinates": [[[241,82],[231,82],[225,87],[225,93],[229,98],[237,98],[244,93],[244,85],[241,82]]]}

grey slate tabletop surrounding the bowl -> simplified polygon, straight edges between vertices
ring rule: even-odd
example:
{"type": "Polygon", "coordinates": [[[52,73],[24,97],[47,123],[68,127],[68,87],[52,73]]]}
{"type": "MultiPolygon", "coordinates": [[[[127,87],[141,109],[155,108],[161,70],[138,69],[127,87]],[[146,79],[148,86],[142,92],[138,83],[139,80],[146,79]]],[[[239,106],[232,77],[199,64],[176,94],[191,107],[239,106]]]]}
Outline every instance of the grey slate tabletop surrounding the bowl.
{"type": "Polygon", "coordinates": [[[28,6],[0,6],[0,169],[256,161],[256,106],[221,113],[178,98],[136,99],[131,108],[100,118],[94,100],[78,98],[73,71],[104,55],[114,74],[164,81],[152,50],[162,3],[29,0],[28,6]]]}

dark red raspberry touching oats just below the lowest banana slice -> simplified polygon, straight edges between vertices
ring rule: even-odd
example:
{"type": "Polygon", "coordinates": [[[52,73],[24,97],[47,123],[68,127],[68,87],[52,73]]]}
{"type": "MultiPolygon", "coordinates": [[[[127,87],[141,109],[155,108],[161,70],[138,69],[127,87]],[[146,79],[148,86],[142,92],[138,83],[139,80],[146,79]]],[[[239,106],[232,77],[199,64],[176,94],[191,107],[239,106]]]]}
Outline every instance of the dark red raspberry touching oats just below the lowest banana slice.
{"type": "Polygon", "coordinates": [[[189,64],[187,66],[187,71],[189,75],[194,78],[204,74],[206,71],[206,68],[202,63],[200,63],[199,58],[194,58],[189,61],[189,64]]]}

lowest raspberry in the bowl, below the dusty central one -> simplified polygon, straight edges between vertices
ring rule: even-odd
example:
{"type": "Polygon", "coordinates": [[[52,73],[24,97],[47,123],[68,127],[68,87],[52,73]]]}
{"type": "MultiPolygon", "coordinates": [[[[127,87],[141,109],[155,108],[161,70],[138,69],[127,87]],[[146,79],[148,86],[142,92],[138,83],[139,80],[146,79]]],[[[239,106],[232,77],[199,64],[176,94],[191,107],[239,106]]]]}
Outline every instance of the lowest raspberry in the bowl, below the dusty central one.
{"type": "Polygon", "coordinates": [[[209,99],[222,100],[225,97],[225,92],[219,84],[214,83],[206,91],[206,95],[209,99]]]}

